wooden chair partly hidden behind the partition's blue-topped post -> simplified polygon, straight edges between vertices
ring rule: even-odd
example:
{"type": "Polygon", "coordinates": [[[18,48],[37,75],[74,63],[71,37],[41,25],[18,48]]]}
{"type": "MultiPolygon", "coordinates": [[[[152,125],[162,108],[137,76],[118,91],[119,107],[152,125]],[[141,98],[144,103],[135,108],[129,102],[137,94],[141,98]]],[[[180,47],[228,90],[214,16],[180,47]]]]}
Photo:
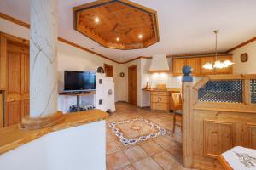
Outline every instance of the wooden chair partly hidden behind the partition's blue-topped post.
{"type": "Polygon", "coordinates": [[[182,111],[183,104],[182,104],[182,95],[181,95],[181,93],[171,93],[171,96],[172,96],[172,102],[173,102],[173,108],[174,108],[173,109],[173,113],[174,113],[173,128],[172,128],[172,132],[174,133],[176,125],[182,127],[182,122],[180,124],[176,123],[176,116],[177,115],[180,115],[180,116],[183,115],[183,111],[182,111]]]}

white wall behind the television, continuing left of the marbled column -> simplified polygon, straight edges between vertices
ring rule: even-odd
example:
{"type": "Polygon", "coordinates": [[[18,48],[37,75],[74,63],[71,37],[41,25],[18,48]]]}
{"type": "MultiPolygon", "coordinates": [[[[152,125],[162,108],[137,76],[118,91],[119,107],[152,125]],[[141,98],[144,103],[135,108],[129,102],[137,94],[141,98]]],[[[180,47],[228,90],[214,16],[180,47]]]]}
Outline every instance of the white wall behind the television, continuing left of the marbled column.
{"type": "MultiPolygon", "coordinates": [[[[29,39],[30,34],[29,29],[3,19],[0,19],[0,31],[25,39],[29,39]]],[[[125,65],[119,65],[111,60],[104,59],[96,54],[90,54],[89,52],[75,48],[64,42],[58,42],[58,57],[59,91],[63,88],[63,73],[65,70],[93,70],[98,66],[108,64],[113,65],[114,70],[115,101],[127,101],[127,94],[124,90],[125,82],[123,81],[125,78],[119,77],[119,72],[126,71],[125,65]]],[[[76,104],[76,97],[59,97],[59,109],[61,111],[67,111],[68,105],[74,104],[76,104]]]]}

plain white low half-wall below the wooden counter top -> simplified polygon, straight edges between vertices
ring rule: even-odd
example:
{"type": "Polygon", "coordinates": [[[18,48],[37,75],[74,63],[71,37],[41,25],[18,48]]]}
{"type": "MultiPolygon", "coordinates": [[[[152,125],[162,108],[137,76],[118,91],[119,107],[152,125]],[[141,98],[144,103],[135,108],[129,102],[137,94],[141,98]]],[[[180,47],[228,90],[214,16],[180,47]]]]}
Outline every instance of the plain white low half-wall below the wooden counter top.
{"type": "Polygon", "coordinates": [[[1,170],[104,170],[106,122],[71,127],[0,155],[1,170]]]}

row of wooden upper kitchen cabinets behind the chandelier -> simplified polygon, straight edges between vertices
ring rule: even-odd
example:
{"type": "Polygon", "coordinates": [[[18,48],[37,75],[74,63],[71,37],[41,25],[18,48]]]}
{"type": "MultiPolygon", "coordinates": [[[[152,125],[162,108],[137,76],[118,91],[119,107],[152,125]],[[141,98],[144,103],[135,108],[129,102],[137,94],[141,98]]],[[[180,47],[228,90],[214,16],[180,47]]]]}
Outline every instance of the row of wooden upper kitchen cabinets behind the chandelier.
{"type": "MultiPolygon", "coordinates": [[[[218,60],[225,61],[230,60],[232,61],[232,56],[224,55],[218,56],[218,60]]],[[[214,75],[214,74],[232,74],[233,68],[232,66],[224,69],[204,69],[202,66],[206,63],[215,62],[215,57],[200,57],[200,58],[189,58],[189,59],[172,59],[172,73],[174,76],[181,76],[183,75],[182,69],[183,66],[189,65],[192,67],[192,75],[193,76],[205,76],[205,75],[214,75]]]]}

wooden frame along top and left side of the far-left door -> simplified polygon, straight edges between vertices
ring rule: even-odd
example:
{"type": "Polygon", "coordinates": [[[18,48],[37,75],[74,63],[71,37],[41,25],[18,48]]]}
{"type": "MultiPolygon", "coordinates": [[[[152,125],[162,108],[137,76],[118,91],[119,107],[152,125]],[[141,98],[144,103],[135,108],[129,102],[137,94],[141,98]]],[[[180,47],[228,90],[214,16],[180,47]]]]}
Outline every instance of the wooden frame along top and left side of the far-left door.
{"type": "MultiPolygon", "coordinates": [[[[0,111],[0,128],[4,127],[4,114],[5,114],[5,103],[6,99],[4,98],[4,95],[6,94],[7,90],[7,77],[8,77],[8,71],[7,71],[7,45],[8,42],[12,42],[15,44],[20,44],[22,46],[29,47],[29,40],[26,40],[24,38],[15,37],[13,35],[4,33],[0,31],[0,91],[2,91],[3,94],[3,106],[0,106],[0,109],[3,108],[3,111],[0,111]]],[[[0,104],[1,105],[1,104],[0,104]]]]}

